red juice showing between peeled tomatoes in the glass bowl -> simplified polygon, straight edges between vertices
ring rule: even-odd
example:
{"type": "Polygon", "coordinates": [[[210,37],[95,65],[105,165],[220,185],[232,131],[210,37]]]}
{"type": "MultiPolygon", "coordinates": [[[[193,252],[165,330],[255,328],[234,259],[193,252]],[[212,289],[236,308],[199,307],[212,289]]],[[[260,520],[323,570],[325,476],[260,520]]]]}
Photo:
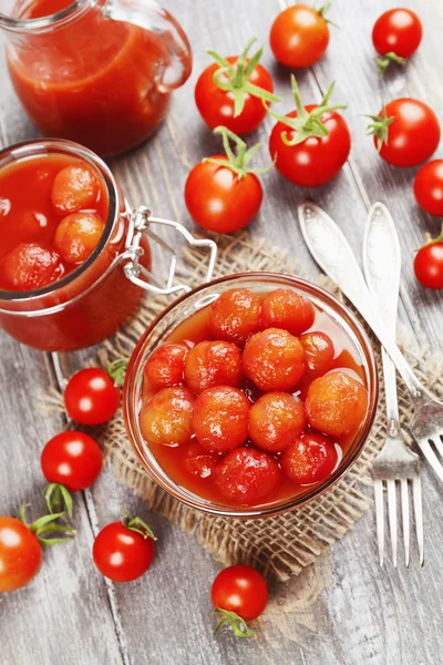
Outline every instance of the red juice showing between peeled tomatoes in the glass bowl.
{"type": "MultiPolygon", "coordinates": [[[[209,339],[214,339],[210,334],[210,306],[207,306],[199,310],[198,313],[192,315],[189,318],[185,319],[181,325],[178,325],[175,330],[171,332],[171,335],[164,340],[165,342],[187,342],[194,346],[199,341],[205,341],[209,339]]],[[[361,365],[361,360],[359,357],[359,352],[348,335],[344,330],[324,311],[315,307],[315,320],[309,330],[316,330],[327,334],[333,341],[334,346],[334,357],[331,361],[328,371],[332,369],[344,369],[346,372],[349,372],[351,376],[358,377],[361,382],[365,386],[364,381],[364,370],[361,365]]],[[[293,395],[297,395],[301,400],[305,400],[307,390],[309,388],[310,380],[302,379],[300,383],[297,386],[297,391],[293,395]]],[[[240,386],[240,388],[244,388],[240,386]]],[[[254,390],[254,387],[253,387],[254,390]]],[[[258,390],[258,389],[257,389],[258,390]]],[[[143,386],[143,399],[148,398],[153,392],[150,390],[150,387],[146,385],[146,381],[143,386]]],[[[248,391],[246,391],[246,395],[248,391]]],[[[310,427],[308,426],[308,430],[310,431],[310,427]]],[[[348,454],[352,450],[352,443],[356,440],[357,432],[352,434],[348,434],[344,437],[340,437],[340,439],[334,440],[334,446],[338,453],[338,464],[341,464],[343,460],[347,459],[348,454]]],[[[186,464],[186,456],[188,451],[192,449],[195,439],[190,441],[188,444],[177,446],[177,447],[168,447],[156,444],[150,442],[150,450],[154,453],[155,458],[166,471],[166,473],[176,482],[178,485],[182,485],[195,493],[198,497],[202,497],[208,501],[215,502],[217,504],[224,505],[233,505],[238,508],[238,504],[234,502],[229,502],[224,498],[220,492],[214,487],[213,480],[210,475],[206,478],[202,478],[193,474],[187,464],[186,464]]],[[[244,447],[255,448],[254,443],[250,440],[247,440],[244,447]]],[[[216,453],[212,453],[216,454],[216,453]]],[[[272,453],[271,457],[280,463],[281,453],[272,453]]],[[[224,458],[223,454],[218,454],[219,461],[224,458]]],[[[292,482],[288,477],[284,475],[281,484],[278,489],[264,502],[259,504],[254,504],[254,508],[265,508],[270,507],[272,504],[277,504],[292,498],[306,494],[319,484],[322,484],[324,480],[312,483],[305,487],[299,487],[295,482],[292,482]]]]}

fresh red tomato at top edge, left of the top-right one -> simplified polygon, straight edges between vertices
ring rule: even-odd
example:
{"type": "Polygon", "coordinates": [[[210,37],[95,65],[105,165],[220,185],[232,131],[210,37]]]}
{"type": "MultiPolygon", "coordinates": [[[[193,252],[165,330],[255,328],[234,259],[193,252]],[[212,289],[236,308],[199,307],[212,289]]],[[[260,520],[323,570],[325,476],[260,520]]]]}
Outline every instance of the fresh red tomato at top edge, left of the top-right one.
{"type": "Polygon", "coordinates": [[[329,44],[324,9],[293,4],[278,14],[270,29],[270,48],[281,64],[310,66],[318,62],[329,44]]]}

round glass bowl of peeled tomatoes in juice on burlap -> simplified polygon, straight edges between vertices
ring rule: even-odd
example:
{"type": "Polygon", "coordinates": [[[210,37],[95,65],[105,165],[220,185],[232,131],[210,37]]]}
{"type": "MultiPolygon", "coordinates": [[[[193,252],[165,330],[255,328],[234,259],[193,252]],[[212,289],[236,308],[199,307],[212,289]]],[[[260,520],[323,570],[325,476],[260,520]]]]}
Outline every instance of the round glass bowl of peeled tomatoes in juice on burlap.
{"type": "Polygon", "coordinates": [[[166,492],[259,518],[327,491],[361,454],[378,401],[370,340],[298,277],[228,275],[164,309],[130,360],[131,444],[166,492]]]}

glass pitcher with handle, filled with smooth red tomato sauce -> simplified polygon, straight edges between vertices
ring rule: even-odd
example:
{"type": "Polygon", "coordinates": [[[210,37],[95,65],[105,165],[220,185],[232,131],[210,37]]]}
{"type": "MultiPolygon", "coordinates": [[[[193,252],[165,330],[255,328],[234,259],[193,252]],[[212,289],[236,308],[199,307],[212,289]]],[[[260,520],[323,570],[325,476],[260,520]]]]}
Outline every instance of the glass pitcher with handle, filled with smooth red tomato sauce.
{"type": "Polygon", "coordinates": [[[150,136],[189,76],[187,38],[152,0],[16,0],[9,14],[0,27],[28,115],[100,155],[150,136]]]}

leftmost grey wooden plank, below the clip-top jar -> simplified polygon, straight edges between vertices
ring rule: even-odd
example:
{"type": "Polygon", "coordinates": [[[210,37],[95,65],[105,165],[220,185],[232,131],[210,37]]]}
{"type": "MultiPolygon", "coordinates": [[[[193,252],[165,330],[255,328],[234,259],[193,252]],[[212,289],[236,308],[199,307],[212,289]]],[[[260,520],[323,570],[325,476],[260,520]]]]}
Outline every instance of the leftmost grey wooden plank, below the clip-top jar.
{"type": "MultiPolygon", "coordinates": [[[[63,423],[38,407],[40,389],[51,383],[44,355],[1,334],[0,358],[0,513],[17,515],[27,499],[35,518],[44,510],[40,451],[63,423]]],[[[47,548],[32,583],[0,594],[2,665],[122,663],[81,497],[75,508],[74,542],[47,548]]]]}

